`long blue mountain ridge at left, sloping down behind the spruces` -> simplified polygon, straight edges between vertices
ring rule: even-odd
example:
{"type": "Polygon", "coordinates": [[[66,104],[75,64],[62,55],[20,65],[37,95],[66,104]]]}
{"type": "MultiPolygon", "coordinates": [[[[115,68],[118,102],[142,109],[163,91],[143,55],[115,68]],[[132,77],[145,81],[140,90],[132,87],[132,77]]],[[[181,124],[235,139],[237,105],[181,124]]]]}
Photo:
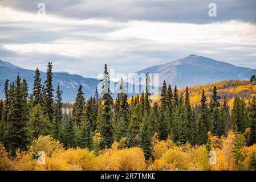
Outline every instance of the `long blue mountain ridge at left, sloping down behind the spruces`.
{"type": "MultiPolygon", "coordinates": [[[[54,68],[54,67],[53,67],[54,68]]],[[[5,80],[8,79],[9,83],[15,81],[15,78],[17,75],[21,76],[22,79],[26,79],[27,84],[29,85],[29,93],[32,92],[33,88],[33,82],[34,82],[34,75],[35,71],[30,69],[24,69],[21,67],[17,67],[13,64],[10,64],[6,61],[0,61],[0,90],[3,90],[3,85],[5,84],[5,80]]],[[[46,73],[40,72],[40,77],[42,78],[42,84],[44,80],[46,80],[46,73]]],[[[89,97],[95,96],[95,88],[97,86],[97,89],[101,90],[101,84],[100,80],[97,80],[96,78],[84,78],[80,75],[71,75],[67,72],[54,72],[53,73],[53,86],[54,89],[57,87],[57,85],[60,85],[60,89],[63,90],[63,101],[64,102],[74,102],[76,93],[78,90],[79,85],[83,86],[83,92],[85,97],[88,99],[89,97]]],[[[128,90],[135,90],[133,89],[133,85],[129,83],[125,83],[128,90]]],[[[118,82],[111,82],[111,92],[112,97],[115,98],[117,96],[117,93],[115,92],[115,89],[119,85],[118,82]]],[[[145,85],[136,85],[137,93],[141,93],[141,90],[145,90],[145,85]]],[[[159,92],[159,88],[156,87],[156,92],[159,92]]],[[[132,95],[136,95],[137,93],[133,93],[131,91],[127,92],[129,93],[128,96],[131,97],[132,95]]],[[[3,98],[3,92],[0,92],[0,99],[3,98]]]]}

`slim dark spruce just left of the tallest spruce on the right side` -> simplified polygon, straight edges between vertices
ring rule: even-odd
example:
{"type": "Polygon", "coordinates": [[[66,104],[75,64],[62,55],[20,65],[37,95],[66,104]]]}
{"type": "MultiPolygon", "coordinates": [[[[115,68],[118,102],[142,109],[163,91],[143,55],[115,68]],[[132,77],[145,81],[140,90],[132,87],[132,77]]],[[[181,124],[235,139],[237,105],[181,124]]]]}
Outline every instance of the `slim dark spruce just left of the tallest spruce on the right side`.
{"type": "Polygon", "coordinates": [[[205,144],[208,142],[208,131],[210,131],[209,111],[206,104],[206,96],[204,89],[202,90],[202,97],[200,101],[200,111],[198,115],[198,144],[205,144]]]}

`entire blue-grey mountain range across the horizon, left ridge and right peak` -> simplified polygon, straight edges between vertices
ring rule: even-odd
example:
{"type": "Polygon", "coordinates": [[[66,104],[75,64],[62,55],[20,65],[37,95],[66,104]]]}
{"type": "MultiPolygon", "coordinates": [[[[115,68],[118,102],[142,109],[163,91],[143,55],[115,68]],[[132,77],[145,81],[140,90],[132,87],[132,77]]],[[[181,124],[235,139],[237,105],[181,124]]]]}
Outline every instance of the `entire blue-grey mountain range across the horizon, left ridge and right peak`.
{"type": "MultiPolygon", "coordinates": [[[[159,81],[155,83],[152,81],[152,84],[156,86],[156,92],[160,91],[160,86],[164,80],[167,84],[171,84],[172,86],[177,84],[178,88],[181,88],[187,85],[207,84],[222,80],[243,80],[250,78],[251,75],[256,75],[256,69],[235,67],[232,64],[216,61],[207,57],[189,55],[170,63],[155,65],[135,72],[135,75],[127,80],[127,90],[135,90],[135,86],[139,87],[139,93],[141,93],[142,90],[145,90],[145,76],[139,78],[138,75],[141,73],[144,73],[142,75],[145,75],[147,72],[159,74],[159,81]]],[[[0,98],[3,98],[2,90],[5,80],[9,79],[9,82],[13,82],[18,73],[21,78],[27,80],[30,93],[32,92],[35,71],[17,67],[16,65],[0,60],[0,98]]],[[[46,73],[40,72],[40,75],[43,84],[44,80],[46,80],[46,73]]],[[[152,77],[152,80],[154,80],[154,76],[152,77]]],[[[79,85],[83,86],[83,92],[86,98],[95,96],[96,86],[99,92],[101,89],[100,80],[97,80],[96,78],[84,78],[80,75],[71,75],[67,72],[54,72],[54,89],[58,84],[60,85],[60,89],[63,90],[64,102],[75,101],[79,85]]],[[[111,84],[114,85],[111,90],[113,93],[112,96],[115,98],[115,87],[118,83],[111,82],[111,84]]],[[[131,97],[137,93],[138,92],[129,92],[128,96],[131,97]]]]}

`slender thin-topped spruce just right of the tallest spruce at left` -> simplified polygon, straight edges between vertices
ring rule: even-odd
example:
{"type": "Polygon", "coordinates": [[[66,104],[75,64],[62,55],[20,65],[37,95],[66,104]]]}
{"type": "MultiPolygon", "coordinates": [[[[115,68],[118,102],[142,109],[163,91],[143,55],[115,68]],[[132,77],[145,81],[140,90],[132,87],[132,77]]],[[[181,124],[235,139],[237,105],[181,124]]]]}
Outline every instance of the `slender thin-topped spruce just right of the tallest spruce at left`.
{"type": "Polygon", "coordinates": [[[62,90],[60,90],[59,84],[56,89],[56,100],[54,105],[54,120],[53,120],[53,137],[55,139],[60,139],[60,127],[62,123],[62,90]]]}

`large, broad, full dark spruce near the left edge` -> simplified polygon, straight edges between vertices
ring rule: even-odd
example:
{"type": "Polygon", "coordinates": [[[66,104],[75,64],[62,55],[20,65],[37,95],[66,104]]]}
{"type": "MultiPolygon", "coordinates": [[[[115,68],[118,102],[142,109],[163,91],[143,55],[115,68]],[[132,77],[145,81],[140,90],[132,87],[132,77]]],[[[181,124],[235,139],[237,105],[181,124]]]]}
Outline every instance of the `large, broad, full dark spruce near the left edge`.
{"type": "Polygon", "coordinates": [[[8,114],[8,128],[7,128],[7,148],[11,154],[15,154],[15,150],[20,148],[26,150],[31,142],[30,133],[28,131],[27,122],[29,120],[27,100],[22,89],[21,78],[19,75],[15,80],[15,87],[8,114]]]}

